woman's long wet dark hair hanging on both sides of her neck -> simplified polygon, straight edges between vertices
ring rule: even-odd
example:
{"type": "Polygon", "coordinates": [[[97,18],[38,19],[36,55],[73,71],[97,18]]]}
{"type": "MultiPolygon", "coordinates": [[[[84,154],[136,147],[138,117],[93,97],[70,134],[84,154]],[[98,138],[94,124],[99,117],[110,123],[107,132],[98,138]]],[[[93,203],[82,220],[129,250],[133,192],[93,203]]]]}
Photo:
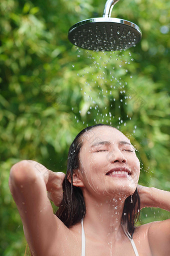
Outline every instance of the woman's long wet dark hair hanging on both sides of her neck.
{"type": "MultiPolygon", "coordinates": [[[[80,220],[85,216],[85,202],[83,198],[82,191],[79,187],[72,185],[72,175],[73,170],[79,167],[79,151],[82,146],[82,137],[86,140],[92,139],[94,135],[92,129],[97,126],[109,126],[107,124],[95,124],[88,126],[83,129],[73,140],[69,151],[67,159],[67,170],[65,179],[63,181],[63,199],[60,206],[55,213],[56,216],[67,226],[70,227],[80,222],[80,220]],[[87,131],[91,130],[91,133],[87,131]],[[69,182],[70,180],[70,182],[69,182]]],[[[140,214],[140,198],[137,189],[134,191],[132,196],[125,199],[124,208],[121,216],[121,223],[125,227],[127,234],[132,236],[134,231],[134,224],[137,222],[140,214]]]]}

